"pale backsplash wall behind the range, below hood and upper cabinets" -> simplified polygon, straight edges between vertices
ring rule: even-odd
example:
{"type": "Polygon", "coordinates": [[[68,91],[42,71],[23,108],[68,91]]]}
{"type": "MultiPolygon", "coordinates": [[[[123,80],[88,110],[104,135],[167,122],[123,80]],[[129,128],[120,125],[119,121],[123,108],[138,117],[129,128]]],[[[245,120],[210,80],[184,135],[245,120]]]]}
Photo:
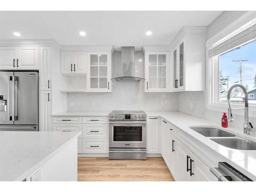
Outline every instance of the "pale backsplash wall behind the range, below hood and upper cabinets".
{"type": "Polygon", "coordinates": [[[68,111],[178,111],[178,93],[143,91],[144,82],[114,81],[112,93],[69,93],[68,111]],[[161,106],[162,101],[164,106],[161,106]],[[74,106],[70,106],[70,102],[74,106]],[[95,102],[95,106],[92,106],[92,102],[95,102]]]}

